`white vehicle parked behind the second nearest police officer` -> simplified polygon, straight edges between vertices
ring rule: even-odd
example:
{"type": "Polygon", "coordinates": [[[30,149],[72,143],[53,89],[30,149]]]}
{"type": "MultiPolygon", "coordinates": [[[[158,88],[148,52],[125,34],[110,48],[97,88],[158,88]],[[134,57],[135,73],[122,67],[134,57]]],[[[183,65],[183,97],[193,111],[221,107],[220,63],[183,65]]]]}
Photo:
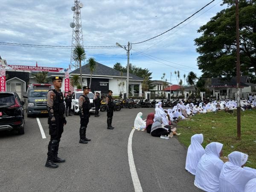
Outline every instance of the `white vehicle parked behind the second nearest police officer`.
{"type": "MultiPolygon", "coordinates": [[[[83,94],[83,91],[81,89],[77,89],[72,93],[71,109],[73,109],[74,114],[77,114],[79,112],[78,100],[79,100],[79,96],[82,94],[83,94]]],[[[90,99],[90,112],[95,112],[95,106],[93,103],[94,94],[92,92],[89,92],[87,96],[90,99]]]]}

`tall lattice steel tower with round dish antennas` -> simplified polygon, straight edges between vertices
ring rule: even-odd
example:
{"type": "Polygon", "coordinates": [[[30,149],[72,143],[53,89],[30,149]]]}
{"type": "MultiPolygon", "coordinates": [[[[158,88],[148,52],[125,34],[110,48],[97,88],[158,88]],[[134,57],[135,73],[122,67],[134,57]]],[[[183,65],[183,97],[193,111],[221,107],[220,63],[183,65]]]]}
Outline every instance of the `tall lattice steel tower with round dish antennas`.
{"type": "Polygon", "coordinates": [[[79,68],[79,63],[76,62],[73,58],[73,50],[78,44],[80,44],[81,46],[84,46],[81,10],[80,10],[82,7],[83,7],[83,3],[80,3],[79,0],[74,0],[74,6],[71,7],[71,10],[74,12],[74,16],[73,16],[73,22],[70,23],[70,27],[73,28],[70,67],[75,67],[76,69],[79,68]]]}

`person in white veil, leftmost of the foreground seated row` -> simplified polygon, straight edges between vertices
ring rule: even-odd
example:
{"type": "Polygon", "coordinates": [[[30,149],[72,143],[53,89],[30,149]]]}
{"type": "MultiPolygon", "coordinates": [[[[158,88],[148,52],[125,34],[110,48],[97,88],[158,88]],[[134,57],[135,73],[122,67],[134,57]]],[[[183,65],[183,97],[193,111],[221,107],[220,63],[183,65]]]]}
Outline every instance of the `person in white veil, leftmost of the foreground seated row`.
{"type": "Polygon", "coordinates": [[[204,148],[201,145],[203,141],[203,134],[195,134],[191,137],[191,144],[189,145],[186,156],[185,169],[193,175],[195,175],[199,160],[205,153],[204,148]]]}

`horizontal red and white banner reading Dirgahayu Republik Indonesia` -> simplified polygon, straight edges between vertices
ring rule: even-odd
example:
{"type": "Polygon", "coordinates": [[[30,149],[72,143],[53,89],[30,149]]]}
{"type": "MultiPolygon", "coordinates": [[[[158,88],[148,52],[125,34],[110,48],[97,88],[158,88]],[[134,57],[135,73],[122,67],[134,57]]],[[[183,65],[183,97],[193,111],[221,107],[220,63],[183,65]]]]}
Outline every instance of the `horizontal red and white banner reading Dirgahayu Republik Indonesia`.
{"type": "Polygon", "coordinates": [[[58,67],[37,67],[37,66],[26,66],[26,65],[8,65],[11,70],[25,70],[25,71],[48,71],[48,72],[60,72],[63,68],[58,67]]]}

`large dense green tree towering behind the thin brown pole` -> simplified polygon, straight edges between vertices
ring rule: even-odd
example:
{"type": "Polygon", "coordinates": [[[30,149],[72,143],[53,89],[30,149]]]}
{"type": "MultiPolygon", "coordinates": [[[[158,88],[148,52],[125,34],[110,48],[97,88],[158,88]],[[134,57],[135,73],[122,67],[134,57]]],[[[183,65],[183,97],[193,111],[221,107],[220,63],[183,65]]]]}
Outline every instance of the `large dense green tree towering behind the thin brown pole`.
{"type": "MultiPolygon", "coordinates": [[[[236,76],[236,7],[235,0],[201,26],[202,36],[195,39],[198,67],[204,78],[236,76]]],[[[242,75],[256,82],[256,1],[239,0],[240,63],[242,75]]]]}

